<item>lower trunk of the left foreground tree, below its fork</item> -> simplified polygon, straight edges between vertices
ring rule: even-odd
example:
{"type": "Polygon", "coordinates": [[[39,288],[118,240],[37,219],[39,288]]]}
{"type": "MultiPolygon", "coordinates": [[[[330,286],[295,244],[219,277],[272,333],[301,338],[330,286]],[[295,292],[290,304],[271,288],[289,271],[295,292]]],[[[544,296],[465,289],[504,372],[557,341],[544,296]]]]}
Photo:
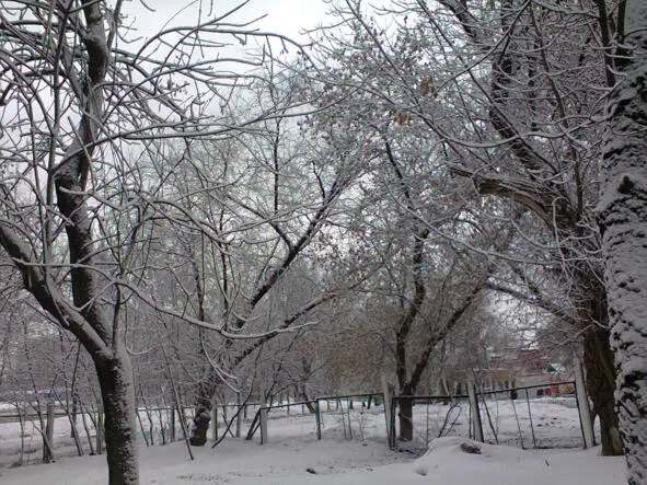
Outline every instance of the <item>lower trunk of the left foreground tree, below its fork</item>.
{"type": "Polygon", "coordinates": [[[95,359],[94,366],[105,413],[108,484],[137,485],[139,470],[130,358],[122,350],[113,359],[95,359]]]}

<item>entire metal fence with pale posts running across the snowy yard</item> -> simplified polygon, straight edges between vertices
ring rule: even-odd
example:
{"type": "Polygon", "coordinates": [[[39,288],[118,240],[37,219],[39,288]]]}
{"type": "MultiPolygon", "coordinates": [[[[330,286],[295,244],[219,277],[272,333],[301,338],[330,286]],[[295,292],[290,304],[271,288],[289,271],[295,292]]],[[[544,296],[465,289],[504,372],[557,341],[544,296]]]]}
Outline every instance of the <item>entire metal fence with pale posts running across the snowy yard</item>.
{"type": "MultiPolygon", "coordinates": [[[[381,393],[285,401],[271,406],[224,404],[213,408],[209,437],[215,441],[246,437],[261,442],[377,440],[392,448],[424,451],[435,438],[482,436],[485,442],[521,448],[576,448],[582,447],[584,440],[574,388],[574,382],[561,382],[475,392],[476,407],[469,395],[395,396],[385,405],[381,393]],[[398,440],[403,400],[412,403],[413,439],[408,442],[398,440]]],[[[192,413],[189,406],[182,407],[182,417],[171,406],[140,408],[139,440],[153,446],[184,439],[192,413]]],[[[57,406],[51,418],[48,439],[56,457],[102,451],[101,409],[83,408],[72,417],[57,406]]],[[[0,409],[0,440],[5,444],[0,466],[42,461],[47,423],[32,408],[0,409]]]]}

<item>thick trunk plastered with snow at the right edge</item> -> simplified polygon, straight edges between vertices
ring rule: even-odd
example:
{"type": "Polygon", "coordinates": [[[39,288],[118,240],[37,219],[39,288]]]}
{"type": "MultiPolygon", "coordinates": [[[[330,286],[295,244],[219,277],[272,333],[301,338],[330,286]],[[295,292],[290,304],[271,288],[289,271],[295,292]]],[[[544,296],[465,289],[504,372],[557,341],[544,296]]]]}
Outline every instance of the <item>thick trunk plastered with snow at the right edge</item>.
{"type": "MultiPolygon", "coordinates": [[[[599,222],[629,485],[647,483],[647,2],[627,0],[626,76],[611,96],[599,222]]],[[[621,35],[623,33],[621,32],[621,35]]]]}

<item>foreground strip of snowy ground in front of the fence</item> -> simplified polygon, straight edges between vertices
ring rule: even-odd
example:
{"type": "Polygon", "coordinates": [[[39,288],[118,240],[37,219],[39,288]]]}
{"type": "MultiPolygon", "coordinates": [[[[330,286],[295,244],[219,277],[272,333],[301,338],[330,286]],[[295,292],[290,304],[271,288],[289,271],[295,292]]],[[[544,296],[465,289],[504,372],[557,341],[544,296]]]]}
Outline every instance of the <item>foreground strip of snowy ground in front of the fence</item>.
{"type": "MultiPolygon", "coordinates": [[[[412,461],[382,443],[298,440],[259,446],[229,440],[216,450],[198,449],[190,462],[183,443],[142,449],[142,484],[249,485],[622,485],[624,461],[587,451],[524,451],[482,444],[465,453],[463,438],[439,438],[412,461]],[[311,473],[314,472],[314,473],[311,473]]],[[[107,481],[103,457],[62,459],[49,465],[2,471],[3,485],[92,485],[107,481]]]]}

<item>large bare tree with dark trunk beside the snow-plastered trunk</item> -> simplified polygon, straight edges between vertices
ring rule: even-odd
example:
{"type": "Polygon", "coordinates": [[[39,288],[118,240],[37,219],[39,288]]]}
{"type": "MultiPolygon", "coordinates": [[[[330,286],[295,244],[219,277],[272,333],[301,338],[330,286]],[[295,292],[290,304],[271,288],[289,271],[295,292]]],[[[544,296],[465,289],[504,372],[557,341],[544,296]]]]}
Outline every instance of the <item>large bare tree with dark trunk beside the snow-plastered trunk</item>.
{"type": "Polygon", "coordinates": [[[543,223],[540,239],[517,241],[543,246],[567,275],[564,314],[585,335],[605,454],[622,453],[622,439],[593,207],[623,3],[416,0],[371,16],[348,0],[337,11],[348,32],[321,43],[323,56],[361,66],[328,76],[328,85],[361,91],[383,114],[429,130],[454,175],[509,206],[484,207],[493,219],[508,213],[515,223],[521,209],[543,223]]]}

